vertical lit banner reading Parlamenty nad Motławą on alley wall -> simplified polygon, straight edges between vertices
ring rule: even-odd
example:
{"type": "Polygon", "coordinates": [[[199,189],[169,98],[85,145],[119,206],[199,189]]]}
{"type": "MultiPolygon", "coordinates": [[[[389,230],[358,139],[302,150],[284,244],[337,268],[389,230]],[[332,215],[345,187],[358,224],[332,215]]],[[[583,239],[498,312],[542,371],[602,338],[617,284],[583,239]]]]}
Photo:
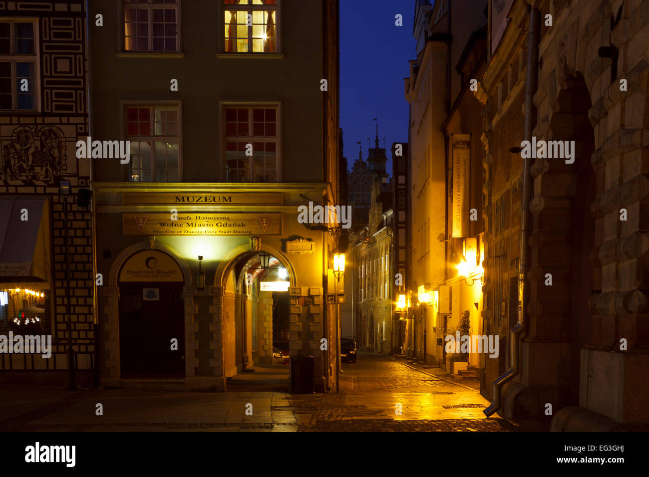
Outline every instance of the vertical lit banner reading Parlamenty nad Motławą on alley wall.
{"type": "Polygon", "coordinates": [[[471,134],[452,135],[453,201],[451,237],[469,235],[469,155],[471,134]]]}

